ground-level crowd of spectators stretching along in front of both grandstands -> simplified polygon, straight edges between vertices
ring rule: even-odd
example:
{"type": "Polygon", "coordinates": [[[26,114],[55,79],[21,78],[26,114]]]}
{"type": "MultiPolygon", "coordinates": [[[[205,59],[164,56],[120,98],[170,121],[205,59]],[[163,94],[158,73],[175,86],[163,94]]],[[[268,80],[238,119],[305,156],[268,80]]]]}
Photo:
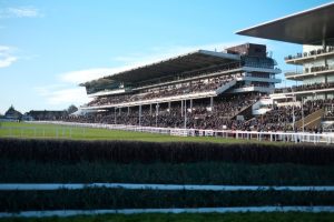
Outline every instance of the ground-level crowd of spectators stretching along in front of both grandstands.
{"type": "Polygon", "coordinates": [[[334,99],[327,99],[306,101],[303,107],[302,104],[272,105],[268,107],[271,111],[263,115],[237,120],[236,117],[254,104],[259,98],[261,95],[255,93],[218,97],[215,98],[213,107],[210,107],[209,101],[204,100],[194,102],[191,108],[189,101],[186,108],[180,102],[173,102],[170,107],[167,103],[161,103],[158,109],[156,109],[156,104],[153,107],[143,105],[140,118],[138,107],[122,108],[97,114],[88,114],[86,117],[69,117],[66,121],[140,124],[141,127],[159,128],[184,128],[186,121],[189,129],[292,131],[293,122],[297,122],[303,115],[305,118],[322,108],[326,108],[325,117],[334,119],[334,99]]]}

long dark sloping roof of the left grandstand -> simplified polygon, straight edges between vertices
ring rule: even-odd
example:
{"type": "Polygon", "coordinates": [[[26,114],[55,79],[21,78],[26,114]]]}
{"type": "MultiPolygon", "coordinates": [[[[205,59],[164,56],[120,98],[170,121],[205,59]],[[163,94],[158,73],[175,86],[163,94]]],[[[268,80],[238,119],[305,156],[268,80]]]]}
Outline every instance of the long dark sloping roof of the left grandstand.
{"type": "Polygon", "coordinates": [[[110,81],[136,83],[149,79],[157,79],[167,75],[179,74],[186,71],[194,71],[204,68],[215,67],[232,61],[238,61],[239,59],[240,56],[238,54],[198,50],[148,65],[138,67],[131,70],[104,77],[101,79],[86,82],[80,85],[102,84],[104,82],[110,81]]]}

